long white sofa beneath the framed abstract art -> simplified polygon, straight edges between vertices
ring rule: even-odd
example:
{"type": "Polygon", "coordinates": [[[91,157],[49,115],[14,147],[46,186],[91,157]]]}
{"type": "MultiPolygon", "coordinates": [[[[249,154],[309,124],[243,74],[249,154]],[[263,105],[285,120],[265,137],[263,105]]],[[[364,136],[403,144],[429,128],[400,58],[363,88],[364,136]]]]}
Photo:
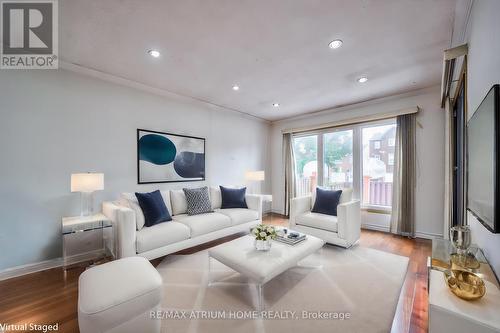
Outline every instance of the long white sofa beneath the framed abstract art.
{"type": "Polygon", "coordinates": [[[210,188],[213,213],[189,216],[182,190],[161,191],[172,221],[151,227],[133,193],[123,193],[120,200],[103,203],[103,213],[112,221],[115,235],[115,257],[141,256],[155,259],[198,244],[242,231],[262,222],[262,197],[247,194],[248,209],[221,209],[219,188],[210,188]],[[135,200],[135,201],[134,201],[135,200]]]}

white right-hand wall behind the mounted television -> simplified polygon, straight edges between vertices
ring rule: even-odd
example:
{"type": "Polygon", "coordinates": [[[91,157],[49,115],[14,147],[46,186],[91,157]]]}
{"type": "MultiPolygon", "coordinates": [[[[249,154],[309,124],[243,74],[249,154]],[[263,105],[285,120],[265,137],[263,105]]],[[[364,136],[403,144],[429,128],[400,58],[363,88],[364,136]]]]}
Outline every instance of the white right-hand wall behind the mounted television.
{"type": "MultiPolygon", "coordinates": [[[[491,86],[500,83],[500,1],[475,0],[467,25],[468,116],[474,114],[491,86]]],[[[500,234],[493,234],[468,214],[472,238],[500,274],[500,234]]]]}

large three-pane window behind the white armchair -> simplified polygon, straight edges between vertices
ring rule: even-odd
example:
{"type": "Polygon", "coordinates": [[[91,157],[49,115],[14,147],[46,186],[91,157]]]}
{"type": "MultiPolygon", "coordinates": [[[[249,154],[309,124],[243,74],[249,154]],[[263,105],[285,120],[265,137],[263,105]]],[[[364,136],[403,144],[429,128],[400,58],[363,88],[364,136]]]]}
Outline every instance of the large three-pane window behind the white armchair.
{"type": "Polygon", "coordinates": [[[353,188],[363,207],[389,211],[395,145],[395,119],[295,135],[296,195],[353,188]]]}

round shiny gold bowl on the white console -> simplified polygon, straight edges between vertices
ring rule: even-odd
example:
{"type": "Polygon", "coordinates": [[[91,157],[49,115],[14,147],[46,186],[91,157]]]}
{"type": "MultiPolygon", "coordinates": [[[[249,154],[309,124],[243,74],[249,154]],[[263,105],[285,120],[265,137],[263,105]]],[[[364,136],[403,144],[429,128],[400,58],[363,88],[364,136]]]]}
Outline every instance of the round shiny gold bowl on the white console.
{"type": "Polygon", "coordinates": [[[461,299],[472,301],[486,293],[483,279],[474,273],[453,269],[444,273],[444,279],[451,292],[461,299]]]}

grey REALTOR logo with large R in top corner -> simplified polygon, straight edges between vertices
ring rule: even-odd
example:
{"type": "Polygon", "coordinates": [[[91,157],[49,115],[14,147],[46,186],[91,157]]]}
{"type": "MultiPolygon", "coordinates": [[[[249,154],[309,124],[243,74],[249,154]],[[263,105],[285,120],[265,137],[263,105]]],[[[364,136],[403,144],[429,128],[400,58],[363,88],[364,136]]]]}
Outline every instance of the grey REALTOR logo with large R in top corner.
{"type": "Polygon", "coordinates": [[[57,69],[57,0],[1,1],[2,69],[57,69]]]}

